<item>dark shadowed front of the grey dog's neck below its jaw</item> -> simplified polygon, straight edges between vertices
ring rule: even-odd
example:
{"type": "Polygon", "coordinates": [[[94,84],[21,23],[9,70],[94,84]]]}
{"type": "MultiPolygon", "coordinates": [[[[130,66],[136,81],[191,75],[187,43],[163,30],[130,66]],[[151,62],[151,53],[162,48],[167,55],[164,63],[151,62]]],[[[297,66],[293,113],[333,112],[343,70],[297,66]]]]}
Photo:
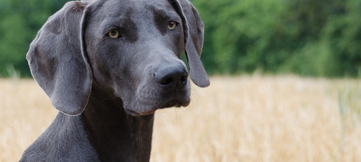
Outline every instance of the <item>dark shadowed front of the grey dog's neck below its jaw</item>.
{"type": "Polygon", "coordinates": [[[133,117],[122,100],[93,87],[82,113],[84,127],[101,161],[149,161],[154,113],[133,117]],[[109,98],[107,98],[109,97],[109,98]]]}

